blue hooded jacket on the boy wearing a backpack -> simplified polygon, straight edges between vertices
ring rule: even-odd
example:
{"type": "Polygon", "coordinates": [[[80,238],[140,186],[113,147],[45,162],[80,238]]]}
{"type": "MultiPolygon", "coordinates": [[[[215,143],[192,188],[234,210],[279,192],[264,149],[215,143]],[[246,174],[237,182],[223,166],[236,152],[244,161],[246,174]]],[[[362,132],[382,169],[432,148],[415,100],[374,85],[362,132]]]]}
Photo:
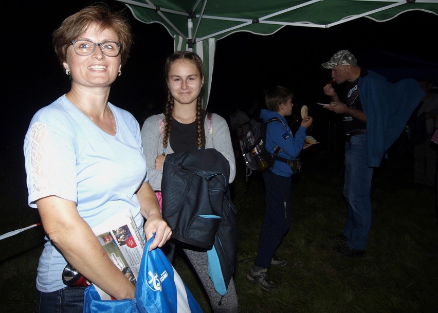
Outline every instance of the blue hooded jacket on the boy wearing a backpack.
{"type": "MultiPolygon", "coordinates": [[[[260,117],[265,122],[273,117],[277,117],[287,125],[287,121],[283,116],[281,116],[277,112],[269,111],[267,109],[261,110],[260,117]]],[[[278,154],[278,156],[288,160],[295,160],[296,158],[298,158],[298,155],[303,149],[305,139],[306,139],[305,127],[300,126],[294,138],[294,135],[292,134],[292,131],[290,130],[289,126],[287,126],[286,129],[283,123],[279,121],[277,122],[274,121],[268,123],[266,127],[265,148],[270,154],[273,154],[276,147],[279,146],[281,148],[281,151],[278,154]]],[[[285,176],[285,177],[294,175],[289,165],[281,161],[276,161],[273,164],[271,171],[274,174],[285,176]]]]}

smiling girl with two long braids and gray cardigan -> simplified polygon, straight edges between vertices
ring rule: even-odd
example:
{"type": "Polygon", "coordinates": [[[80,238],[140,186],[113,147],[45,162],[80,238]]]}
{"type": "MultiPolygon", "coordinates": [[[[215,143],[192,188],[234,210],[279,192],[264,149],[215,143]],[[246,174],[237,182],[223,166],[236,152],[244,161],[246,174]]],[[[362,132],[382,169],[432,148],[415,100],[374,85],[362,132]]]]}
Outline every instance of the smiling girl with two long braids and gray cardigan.
{"type": "MultiPolygon", "coordinates": [[[[152,188],[161,190],[162,167],[167,154],[209,148],[221,152],[228,160],[231,183],[235,176],[235,159],[228,124],[217,114],[212,114],[211,121],[208,120],[207,112],[202,108],[202,60],[190,51],[174,52],[166,60],[165,78],[168,86],[165,113],[149,117],[141,128],[143,152],[152,188]]],[[[171,262],[175,245],[182,248],[193,265],[213,311],[237,312],[238,299],[233,279],[228,285],[227,294],[222,297],[209,277],[207,252],[185,244],[183,247],[181,242],[171,239],[163,246],[171,262]]]]}

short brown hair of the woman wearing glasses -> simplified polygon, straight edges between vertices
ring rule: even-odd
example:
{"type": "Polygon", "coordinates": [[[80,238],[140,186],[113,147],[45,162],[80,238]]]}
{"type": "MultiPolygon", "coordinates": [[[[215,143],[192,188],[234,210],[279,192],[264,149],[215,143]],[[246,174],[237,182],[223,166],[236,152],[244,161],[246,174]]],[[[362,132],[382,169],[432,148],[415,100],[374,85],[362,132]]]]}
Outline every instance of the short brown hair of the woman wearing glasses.
{"type": "Polygon", "coordinates": [[[116,33],[122,44],[120,62],[124,65],[130,56],[133,36],[125,10],[112,11],[106,4],[87,6],[68,16],[53,32],[53,48],[61,65],[66,61],[70,41],[78,39],[90,24],[100,25],[100,30],[110,29],[116,33]]]}

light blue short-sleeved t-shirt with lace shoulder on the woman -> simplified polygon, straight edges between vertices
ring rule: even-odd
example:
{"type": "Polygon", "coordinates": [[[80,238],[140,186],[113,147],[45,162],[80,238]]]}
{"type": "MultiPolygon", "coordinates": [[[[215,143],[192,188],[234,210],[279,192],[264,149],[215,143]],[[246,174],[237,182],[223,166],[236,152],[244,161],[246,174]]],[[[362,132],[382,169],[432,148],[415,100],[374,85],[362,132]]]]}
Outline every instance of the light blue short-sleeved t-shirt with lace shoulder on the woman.
{"type": "MultiPolygon", "coordinates": [[[[102,131],[65,95],[35,113],[24,140],[29,206],[36,208],[36,200],[50,195],[75,201],[92,228],[129,208],[144,240],[135,194],[148,181],[139,124],[131,113],[108,106],[117,126],[115,136],[102,131]]],[[[67,262],[46,240],[36,288],[52,292],[65,287],[62,271],[67,262]]]]}

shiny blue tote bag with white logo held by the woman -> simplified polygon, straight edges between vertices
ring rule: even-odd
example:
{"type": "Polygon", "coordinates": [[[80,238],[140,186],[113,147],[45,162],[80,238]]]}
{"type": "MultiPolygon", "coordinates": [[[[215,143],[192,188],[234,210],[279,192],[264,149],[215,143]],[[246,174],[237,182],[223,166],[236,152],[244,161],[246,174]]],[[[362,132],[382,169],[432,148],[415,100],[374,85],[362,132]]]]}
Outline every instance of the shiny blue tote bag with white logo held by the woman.
{"type": "Polygon", "coordinates": [[[134,299],[101,300],[92,285],[85,289],[84,313],[202,313],[186,284],[160,248],[144,247],[134,299]]]}

